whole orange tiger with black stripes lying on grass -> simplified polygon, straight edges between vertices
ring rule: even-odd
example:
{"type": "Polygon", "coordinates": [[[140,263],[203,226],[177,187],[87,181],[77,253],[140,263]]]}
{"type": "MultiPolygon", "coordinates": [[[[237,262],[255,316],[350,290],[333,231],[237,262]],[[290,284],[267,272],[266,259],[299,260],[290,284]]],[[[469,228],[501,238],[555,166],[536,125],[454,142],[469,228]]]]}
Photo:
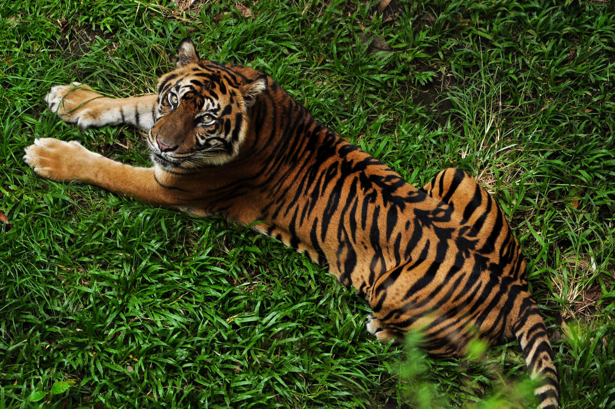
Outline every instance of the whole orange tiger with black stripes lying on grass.
{"type": "Polygon", "coordinates": [[[79,180],[198,216],[222,214],[328,265],[370,303],[367,330],[423,333],[431,354],[464,354],[474,338],[517,338],[539,408],[558,407],[546,326],[502,209],[458,169],[415,188],[327,129],[269,76],[201,60],[191,40],[156,94],[108,98],[52,87],[49,109],[79,128],[147,132],[152,168],[35,139],[24,160],[40,176],[79,180]]]}

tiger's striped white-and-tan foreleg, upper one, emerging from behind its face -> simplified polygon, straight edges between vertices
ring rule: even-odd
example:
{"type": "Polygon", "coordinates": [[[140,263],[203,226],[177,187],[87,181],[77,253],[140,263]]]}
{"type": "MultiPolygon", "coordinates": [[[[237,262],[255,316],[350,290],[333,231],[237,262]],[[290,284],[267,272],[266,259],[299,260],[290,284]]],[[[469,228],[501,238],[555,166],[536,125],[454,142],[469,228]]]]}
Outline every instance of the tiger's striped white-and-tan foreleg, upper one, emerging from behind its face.
{"type": "Polygon", "coordinates": [[[45,101],[50,111],[63,121],[76,123],[81,130],[128,124],[148,131],[157,113],[156,94],[109,98],[81,83],[54,86],[45,101]]]}

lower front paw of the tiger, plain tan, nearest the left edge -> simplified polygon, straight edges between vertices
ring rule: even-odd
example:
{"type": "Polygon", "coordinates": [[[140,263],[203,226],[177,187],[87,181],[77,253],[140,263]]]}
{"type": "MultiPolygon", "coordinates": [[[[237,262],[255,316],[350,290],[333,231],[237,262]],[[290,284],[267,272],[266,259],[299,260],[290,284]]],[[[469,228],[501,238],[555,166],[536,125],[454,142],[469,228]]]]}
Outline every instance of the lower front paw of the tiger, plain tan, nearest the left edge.
{"type": "Polygon", "coordinates": [[[34,139],[34,144],[25,148],[25,152],[23,160],[36,174],[58,182],[89,179],[95,161],[102,157],[79,142],[55,138],[34,139]]]}

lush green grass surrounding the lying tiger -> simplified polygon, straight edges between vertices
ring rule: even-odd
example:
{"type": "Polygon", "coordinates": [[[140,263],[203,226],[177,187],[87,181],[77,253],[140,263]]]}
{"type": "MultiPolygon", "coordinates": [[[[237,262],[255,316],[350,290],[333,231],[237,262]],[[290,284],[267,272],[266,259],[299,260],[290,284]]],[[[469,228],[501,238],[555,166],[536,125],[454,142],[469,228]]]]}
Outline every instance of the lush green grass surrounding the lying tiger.
{"type": "Polygon", "coordinates": [[[0,408],[523,407],[515,342],[456,360],[379,344],[365,302],[292,249],[22,162],[53,136],[147,164],[138,132],[81,133],[42,96],[151,92],[187,34],[415,185],[477,177],[528,259],[563,407],[615,407],[613,2],[399,3],[0,0],[0,408]]]}

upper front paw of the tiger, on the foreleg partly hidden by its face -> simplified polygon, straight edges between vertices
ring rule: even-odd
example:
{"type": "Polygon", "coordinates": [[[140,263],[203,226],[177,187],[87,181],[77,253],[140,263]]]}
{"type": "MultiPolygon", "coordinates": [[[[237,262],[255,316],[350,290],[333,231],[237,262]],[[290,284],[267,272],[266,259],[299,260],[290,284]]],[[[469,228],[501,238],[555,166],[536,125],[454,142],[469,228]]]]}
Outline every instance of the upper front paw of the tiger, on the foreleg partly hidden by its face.
{"type": "Polygon", "coordinates": [[[55,112],[63,121],[76,123],[81,131],[91,126],[105,125],[100,107],[103,100],[108,99],[81,83],[58,85],[45,95],[49,110],[55,112]]]}

